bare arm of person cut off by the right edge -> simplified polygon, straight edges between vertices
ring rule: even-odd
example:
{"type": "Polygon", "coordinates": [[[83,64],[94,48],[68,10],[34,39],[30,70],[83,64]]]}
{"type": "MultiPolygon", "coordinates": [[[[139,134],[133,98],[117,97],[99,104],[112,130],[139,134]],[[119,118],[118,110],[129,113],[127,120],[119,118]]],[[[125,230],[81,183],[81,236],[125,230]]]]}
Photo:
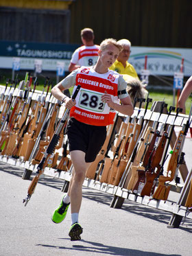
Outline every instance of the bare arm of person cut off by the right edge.
{"type": "MultiPolygon", "coordinates": [[[[179,100],[178,100],[178,107],[182,108],[182,113],[185,114],[185,103],[189,96],[192,93],[192,75],[191,77],[187,80],[186,84],[184,84],[184,88],[182,89],[182,92],[180,94],[179,100]]],[[[189,129],[191,133],[191,138],[192,138],[192,128],[189,129]]]]}

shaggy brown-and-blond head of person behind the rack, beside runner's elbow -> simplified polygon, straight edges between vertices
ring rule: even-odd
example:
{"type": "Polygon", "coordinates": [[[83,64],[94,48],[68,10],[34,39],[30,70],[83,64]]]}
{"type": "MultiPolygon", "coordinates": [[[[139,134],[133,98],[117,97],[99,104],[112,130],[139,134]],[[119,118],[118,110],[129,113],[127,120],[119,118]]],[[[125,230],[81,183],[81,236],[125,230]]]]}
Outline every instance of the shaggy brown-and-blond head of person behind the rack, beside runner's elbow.
{"type": "MultiPolygon", "coordinates": [[[[134,99],[146,99],[148,91],[143,87],[142,82],[137,79],[133,78],[131,75],[123,75],[123,79],[128,84],[127,86],[127,92],[130,95],[130,98],[132,100],[132,104],[134,105],[134,99]]],[[[139,107],[139,102],[136,102],[137,107],[139,107]]],[[[142,108],[144,108],[145,102],[142,103],[142,108]]]]}

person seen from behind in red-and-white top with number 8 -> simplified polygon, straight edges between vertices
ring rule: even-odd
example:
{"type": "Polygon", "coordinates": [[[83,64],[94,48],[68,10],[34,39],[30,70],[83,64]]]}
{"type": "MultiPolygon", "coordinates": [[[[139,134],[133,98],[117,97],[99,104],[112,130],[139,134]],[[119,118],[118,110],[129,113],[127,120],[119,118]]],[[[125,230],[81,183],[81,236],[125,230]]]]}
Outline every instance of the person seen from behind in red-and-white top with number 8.
{"type": "Polygon", "coordinates": [[[88,27],[84,28],[81,31],[81,38],[84,45],[73,52],[69,72],[82,66],[93,66],[97,62],[99,45],[95,45],[93,42],[95,38],[93,30],[88,27]]]}

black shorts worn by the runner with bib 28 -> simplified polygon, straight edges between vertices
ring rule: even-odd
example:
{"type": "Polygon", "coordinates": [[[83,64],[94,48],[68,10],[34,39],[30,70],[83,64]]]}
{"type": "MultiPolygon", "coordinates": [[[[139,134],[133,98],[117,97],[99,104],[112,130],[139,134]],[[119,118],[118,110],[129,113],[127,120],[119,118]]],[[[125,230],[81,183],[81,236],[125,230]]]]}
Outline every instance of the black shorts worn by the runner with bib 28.
{"type": "Polygon", "coordinates": [[[67,136],[69,139],[69,151],[81,150],[85,152],[86,163],[91,163],[95,160],[104,144],[106,126],[91,126],[72,117],[69,120],[67,136]]]}

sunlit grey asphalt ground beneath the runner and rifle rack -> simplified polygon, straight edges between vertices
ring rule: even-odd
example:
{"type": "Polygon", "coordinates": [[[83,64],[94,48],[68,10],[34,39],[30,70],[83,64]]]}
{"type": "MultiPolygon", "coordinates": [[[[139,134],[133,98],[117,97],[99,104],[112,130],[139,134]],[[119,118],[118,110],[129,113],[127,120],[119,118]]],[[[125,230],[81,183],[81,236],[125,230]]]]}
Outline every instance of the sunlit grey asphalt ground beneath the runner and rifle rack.
{"type": "Polygon", "coordinates": [[[24,181],[22,174],[21,167],[0,163],[1,256],[191,256],[191,220],[183,218],[179,229],[167,229],[171,213],[128,200],[121,209],[113,209],[111,195],[88,187],[83,187],[80,211],[82,240],[71,242],[70,210],[64,222],[51,222],[63,181],[41,178],[24,207],[31,180],[24,181]]]}

